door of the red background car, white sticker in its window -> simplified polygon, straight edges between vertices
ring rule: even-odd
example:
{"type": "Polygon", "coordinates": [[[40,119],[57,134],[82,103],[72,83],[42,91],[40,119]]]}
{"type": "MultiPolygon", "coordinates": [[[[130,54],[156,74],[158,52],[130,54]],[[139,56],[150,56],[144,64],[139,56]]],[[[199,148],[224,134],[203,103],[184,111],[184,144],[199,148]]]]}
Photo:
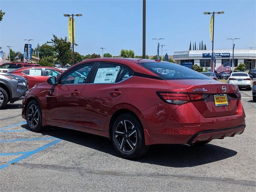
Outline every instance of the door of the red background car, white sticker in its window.
{"type": "Polygon", "coordinates": [[[46,76],[44,76],[43,68],[32,68],[22,71],[20,76],[23,76],[28,80],[28,88],[32,88],[35,84],[46,82],[46,76]]]}

